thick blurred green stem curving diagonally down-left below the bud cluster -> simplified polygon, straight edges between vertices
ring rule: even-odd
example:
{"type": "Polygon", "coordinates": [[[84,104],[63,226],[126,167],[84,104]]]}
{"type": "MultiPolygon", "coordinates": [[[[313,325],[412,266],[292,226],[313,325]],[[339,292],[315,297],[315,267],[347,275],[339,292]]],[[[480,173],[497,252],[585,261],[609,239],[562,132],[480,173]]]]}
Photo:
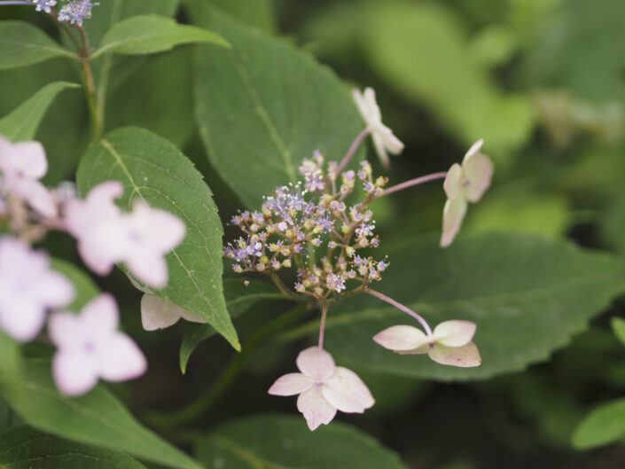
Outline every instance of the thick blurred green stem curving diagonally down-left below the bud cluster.
{"type": "Polygon", "coordinates": [[[153,426],[169,428],[200,418],[223,395],[223,393],[230,386],[232,386],[237,379],[238,374],[243,370],[247,358],[252,354],[254,349],[257,348],[264,340],[270,338],[275,332],[299,320],[307,311],[307,305],[300,304],[281,314],[279,317],[276,317],[273,321],[270,321],[270,323],[265,324],[254,333],[250,340],[247,340],[242,351],[230,359],[226,369],[204,395],[199,396],[198,399],[184,408],[176,410],[175,412],[146,413],[144,416],[145,421],[153,426]]]}

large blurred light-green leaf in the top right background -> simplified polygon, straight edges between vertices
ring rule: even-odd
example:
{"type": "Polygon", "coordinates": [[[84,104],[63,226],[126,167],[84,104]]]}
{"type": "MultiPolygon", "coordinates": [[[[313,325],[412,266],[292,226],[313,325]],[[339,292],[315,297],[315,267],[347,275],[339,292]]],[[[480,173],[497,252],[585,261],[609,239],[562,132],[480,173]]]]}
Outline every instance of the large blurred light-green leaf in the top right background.
{"type": "Polygon", "coordinates": [[[378,2],[364,30],[371,66],[465,145],[483,137],[496,155],[526,143],[534,126],[529,99],[496,88],[442,4],[378,2]]]}

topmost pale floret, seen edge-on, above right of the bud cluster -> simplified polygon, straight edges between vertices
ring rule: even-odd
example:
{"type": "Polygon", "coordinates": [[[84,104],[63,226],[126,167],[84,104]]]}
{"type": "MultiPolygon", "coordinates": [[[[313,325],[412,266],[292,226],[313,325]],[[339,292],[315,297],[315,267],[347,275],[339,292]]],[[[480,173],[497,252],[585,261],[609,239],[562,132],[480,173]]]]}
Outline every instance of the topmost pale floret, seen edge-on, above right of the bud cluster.
{"type": "Polygon", "coordinates": [[[382,113],[379,111],[375,91],[372,88],[365,88],[364,93],[360,90],[353,90],[352,95],[365,124],[371,129],[373,146],[379,159],[384,167],[388,168],[390,166],[388,153],[401,153],[403,150],[402,141],[395,137],[393,130],[382,123],[382,113]]]}

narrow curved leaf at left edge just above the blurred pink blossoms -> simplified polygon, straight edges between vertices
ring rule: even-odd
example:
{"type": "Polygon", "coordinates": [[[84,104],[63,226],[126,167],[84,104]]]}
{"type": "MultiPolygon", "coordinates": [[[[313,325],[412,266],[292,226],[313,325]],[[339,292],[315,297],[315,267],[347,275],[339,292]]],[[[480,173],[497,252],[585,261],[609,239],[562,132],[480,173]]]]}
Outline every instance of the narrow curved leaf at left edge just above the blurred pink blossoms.
{"type": "Polygon", "coordinates": [[[69,82],[52,82],[44,86],[32,98],[0,119],[0,134],[12,142],[35,138],[39,123],[48,107],[54,98],[67,88],[80,88],[80,85],[69,82]]]}

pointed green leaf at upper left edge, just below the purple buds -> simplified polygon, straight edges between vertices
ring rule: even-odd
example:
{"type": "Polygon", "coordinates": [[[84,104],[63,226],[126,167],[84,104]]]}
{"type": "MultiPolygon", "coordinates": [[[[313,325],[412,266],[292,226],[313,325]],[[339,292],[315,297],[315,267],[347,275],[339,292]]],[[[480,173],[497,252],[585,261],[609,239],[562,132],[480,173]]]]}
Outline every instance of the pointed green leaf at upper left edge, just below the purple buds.
{"type": "Polygon", "coordinates": [[[0,21],[0,70],[28,66],[53,57],[76,56],[26,21],[0,21]]]}

